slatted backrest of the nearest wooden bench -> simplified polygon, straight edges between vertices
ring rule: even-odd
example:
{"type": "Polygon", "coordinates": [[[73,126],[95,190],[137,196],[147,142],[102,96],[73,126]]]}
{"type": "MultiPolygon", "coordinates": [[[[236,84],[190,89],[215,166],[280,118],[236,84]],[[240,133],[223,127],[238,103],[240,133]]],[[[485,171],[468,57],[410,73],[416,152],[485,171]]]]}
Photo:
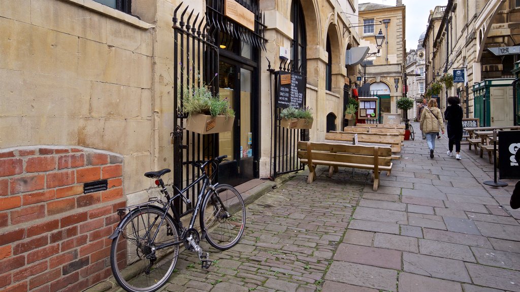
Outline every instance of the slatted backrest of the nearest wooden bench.
{"type": "Polygon", "coordinates": [[[366,165],[375,165],[375,160],[377,160],[378,166],[390,166],[392,149],[378,146],[298,141],[298,158],[366,165]]]}

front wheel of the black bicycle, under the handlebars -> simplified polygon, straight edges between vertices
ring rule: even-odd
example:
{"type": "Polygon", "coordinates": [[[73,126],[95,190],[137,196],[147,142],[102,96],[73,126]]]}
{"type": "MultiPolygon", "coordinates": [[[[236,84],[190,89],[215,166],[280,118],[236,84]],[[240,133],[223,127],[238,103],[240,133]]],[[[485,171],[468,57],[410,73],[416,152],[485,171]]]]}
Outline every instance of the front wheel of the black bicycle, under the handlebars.
{"type": "Polygon", "coordinates": [[[245,205],[240,193],[231,185],[217,185],[204,198],[200,225],[213,247],[225,250],[236,245],[245,228],[245,205]]]}

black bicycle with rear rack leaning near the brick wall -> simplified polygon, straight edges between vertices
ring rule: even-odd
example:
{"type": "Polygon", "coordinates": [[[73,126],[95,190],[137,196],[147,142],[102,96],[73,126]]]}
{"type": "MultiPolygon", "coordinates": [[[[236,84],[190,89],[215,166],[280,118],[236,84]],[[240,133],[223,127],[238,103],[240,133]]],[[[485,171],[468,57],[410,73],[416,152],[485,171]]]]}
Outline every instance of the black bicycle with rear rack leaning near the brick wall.
{"type": "Polygon", "coordinates": [[[242,196],[231,185],[211,183],[218,164],[226,157],[222,155],[206,161],[189,162],[199,168],[202,174],[182,190],[173,186],[176,192],[173,197],[170,197],[161,178],[170,169],[145,173],[146,177],[155,179],[155,185],[166,201],[152,197],[146,203],[117,210],[122,219],[109,236],[112,239],[110,264],[115,280],[123,289],[151,292],[162,287],[174,271],[181,244],[187,250],[196,252],[201,269],[207,269],[212,262],[209,253],[205,253],[199,246],[201,238],[220,250],[229,249],[239,242],[245,228],[242,196]],[[206,172],[210,167],[212,175],[206,172]],[[191,207],[191,200],[184,194],[200,182],[202,188],[196,205],[179,215],[174,208],[174,200],[180,198],[191,207]],[[173,217],[168,213],[169,210],[173,217]],[[190,213],[190,223],[188,227],[183,227],[180,218],[190,213]],[[199,213],[202,235],[194,228],[199,213]]]}

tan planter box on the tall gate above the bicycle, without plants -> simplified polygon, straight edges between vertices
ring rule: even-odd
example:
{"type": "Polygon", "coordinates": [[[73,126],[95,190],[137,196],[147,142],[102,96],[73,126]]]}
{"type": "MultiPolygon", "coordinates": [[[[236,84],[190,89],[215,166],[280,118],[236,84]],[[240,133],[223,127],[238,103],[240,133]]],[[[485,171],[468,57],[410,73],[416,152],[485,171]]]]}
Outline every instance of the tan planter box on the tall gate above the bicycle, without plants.
{"type": "Polygon", "coordinates": [[[234,122],[234,116],[190,114],[186,120],[186,130],[199,134],[229,132],[234,122]]]}

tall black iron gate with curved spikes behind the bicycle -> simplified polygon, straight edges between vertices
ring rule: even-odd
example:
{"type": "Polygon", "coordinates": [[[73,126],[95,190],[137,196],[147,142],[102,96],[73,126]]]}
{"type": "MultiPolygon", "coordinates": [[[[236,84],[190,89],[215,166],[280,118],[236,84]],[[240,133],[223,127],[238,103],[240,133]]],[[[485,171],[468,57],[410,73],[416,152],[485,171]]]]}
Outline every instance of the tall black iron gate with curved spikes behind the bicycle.
{"type": "MultiPolygon", "coordinates": [[[[173,138],[173,170],[175,187],[182,189],[187,182],[197,178],[198,169],[190,162],[204,160],[214,156],[217,149],[217,135],[201,135],[185,130],[187,113],[183,112],[183,101],[186,92],[200,86],[207,86],[213,96],[218,95],[218,47],[212,38],[211,22],[188,7],[180,10],[182,3],[175,8],[173,17],[174,39],[174,132],[173,138]],[[180,18],[178,18],[180,14],[180,18]]],[[[188,190],[186,195],[192,202],[197,201],[200,186],[188,190]]],[[[186,206],[179,202],[179,214],[187,214],[186,206]]]]}

